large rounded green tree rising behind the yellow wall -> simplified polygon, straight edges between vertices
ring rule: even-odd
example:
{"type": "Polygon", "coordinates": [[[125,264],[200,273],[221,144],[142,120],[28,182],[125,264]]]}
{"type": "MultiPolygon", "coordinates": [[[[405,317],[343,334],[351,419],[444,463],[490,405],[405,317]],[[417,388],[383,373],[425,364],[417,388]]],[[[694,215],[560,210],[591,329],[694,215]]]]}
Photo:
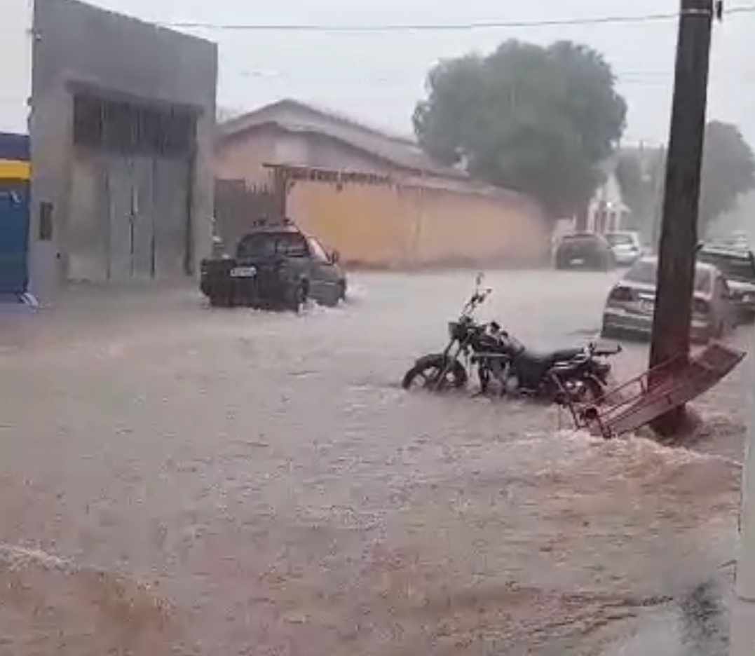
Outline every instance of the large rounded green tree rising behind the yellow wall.
{"type": "Polygon", "coordinates": [[[552,217],[583,211],[627,106],[602,55],[583,45],[504,42],[439,63],[414,130],[431,155],[538,199],[552,217]]]}

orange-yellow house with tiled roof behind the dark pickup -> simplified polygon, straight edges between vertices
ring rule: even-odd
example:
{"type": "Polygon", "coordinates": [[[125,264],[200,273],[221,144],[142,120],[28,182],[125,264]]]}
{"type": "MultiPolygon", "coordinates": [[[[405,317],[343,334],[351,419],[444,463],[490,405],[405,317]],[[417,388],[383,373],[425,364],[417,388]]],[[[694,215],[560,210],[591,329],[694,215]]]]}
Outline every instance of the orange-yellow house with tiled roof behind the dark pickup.
{"type": "Polygon", "coordinates": [[[409,137],[296,100],[218,125],[215,174],[229,241],[255,212],[285,213],[344,261],[369,266],[529,264],[547,253],[532,199],[470,180],[409,137]]]}

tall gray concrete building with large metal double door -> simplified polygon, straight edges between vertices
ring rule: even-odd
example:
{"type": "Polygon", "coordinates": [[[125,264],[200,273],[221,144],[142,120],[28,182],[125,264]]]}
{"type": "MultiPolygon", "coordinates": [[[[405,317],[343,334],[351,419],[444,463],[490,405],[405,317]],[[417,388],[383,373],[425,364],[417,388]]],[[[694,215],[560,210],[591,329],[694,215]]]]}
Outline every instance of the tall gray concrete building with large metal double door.
{"type": "Polygon", "coordinates": [[[35,0],[30,284],[174,279],[211,250],[217,48],[35,0]]]}

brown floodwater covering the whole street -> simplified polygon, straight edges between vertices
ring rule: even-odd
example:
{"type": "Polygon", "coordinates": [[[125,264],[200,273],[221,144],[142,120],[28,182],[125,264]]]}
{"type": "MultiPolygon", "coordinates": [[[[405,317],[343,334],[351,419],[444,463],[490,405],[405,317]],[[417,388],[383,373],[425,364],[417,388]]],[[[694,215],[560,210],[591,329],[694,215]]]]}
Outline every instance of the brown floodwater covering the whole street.
{"type": "MultiPolygon", "coordinates": [[[[617,276],[490,274],[480,316],[583,343],[617,276]]],[[[732,574],[748,360],[698,403],[720,439],[602,442],[399,389],[471,273],[353,284],[303,316],[170,291],[6,319],[0,654],[675,656],[632,644],[652,616],[725,653],[683,608],[732,574]]]]}

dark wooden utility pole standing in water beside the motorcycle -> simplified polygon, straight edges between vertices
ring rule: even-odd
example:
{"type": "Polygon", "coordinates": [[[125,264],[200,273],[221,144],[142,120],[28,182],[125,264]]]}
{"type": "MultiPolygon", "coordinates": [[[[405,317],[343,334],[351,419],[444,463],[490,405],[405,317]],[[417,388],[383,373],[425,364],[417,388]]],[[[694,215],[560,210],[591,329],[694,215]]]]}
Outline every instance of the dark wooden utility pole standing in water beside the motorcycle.
{"type": "MultiPolygon", "coordinates": [[[[714,0],[681,0],[651,368],[689,355],[710,38],[717,8],[714,0]]],[[[654,428],[663,435],[678,433],[684,416],[684,408],[677,408],[654,428]]]]}

